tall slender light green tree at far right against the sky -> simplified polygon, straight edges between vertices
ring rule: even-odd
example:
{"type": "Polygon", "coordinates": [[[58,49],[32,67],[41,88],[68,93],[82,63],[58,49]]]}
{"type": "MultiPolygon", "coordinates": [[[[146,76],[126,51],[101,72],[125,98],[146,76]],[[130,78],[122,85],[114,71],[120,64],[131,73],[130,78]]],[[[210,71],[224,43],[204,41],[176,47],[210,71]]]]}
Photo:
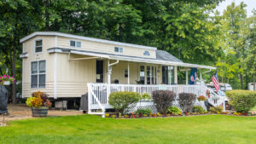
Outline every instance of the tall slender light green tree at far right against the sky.
{"type": "Polygon", "coordinates": [[[247,14],[246,14],[246,4],[240,3],[238,6],[235,3],[231,3],[230,6],[224,10],[224,35],[228,49],[232,49],[235,55],[229,55],[233,57],[230,65],[239,63],[239,78],[241,82],[241,89],[243,86],[243,73],[244,73],[244,60],[247,56],[247,40],[249,29],[247,25],[247,14]]]}

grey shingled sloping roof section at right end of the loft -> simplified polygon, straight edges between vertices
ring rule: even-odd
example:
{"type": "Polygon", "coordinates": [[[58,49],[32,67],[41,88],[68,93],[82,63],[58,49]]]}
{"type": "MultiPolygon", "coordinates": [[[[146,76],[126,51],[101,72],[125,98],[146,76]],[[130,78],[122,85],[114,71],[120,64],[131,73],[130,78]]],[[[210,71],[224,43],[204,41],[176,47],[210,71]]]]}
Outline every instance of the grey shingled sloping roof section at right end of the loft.
{"type": "Polygon", "coordinates": [[[156,50],[155,54],[156,54],[156,60],[183,62],[182,60],[177,59],[175,56],[171,55],[165,50],[156,50]]]}

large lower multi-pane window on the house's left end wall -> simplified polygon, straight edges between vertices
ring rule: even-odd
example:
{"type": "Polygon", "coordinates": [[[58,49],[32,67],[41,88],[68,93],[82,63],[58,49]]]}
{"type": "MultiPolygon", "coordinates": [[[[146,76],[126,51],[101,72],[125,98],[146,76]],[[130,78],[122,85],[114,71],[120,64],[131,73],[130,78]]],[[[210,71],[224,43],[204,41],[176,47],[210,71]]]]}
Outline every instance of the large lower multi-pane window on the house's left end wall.
{"type": "Polygon", "coordinates": [[[31,88],[45,88],[45,60],[31,64],[31,88]]]}

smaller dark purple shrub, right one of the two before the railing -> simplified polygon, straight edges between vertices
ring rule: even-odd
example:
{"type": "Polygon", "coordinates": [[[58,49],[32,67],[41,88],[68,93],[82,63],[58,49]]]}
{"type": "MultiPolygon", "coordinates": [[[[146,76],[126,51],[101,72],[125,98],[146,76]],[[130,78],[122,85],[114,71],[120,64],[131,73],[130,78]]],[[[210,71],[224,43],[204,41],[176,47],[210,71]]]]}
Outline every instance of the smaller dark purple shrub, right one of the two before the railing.
{"type": "Polygon", "coordinates": [[[196,95],[192,93],[180,93],[178,96],[178,103],[183,112],[191,112],[196,100],[196,95]]]}

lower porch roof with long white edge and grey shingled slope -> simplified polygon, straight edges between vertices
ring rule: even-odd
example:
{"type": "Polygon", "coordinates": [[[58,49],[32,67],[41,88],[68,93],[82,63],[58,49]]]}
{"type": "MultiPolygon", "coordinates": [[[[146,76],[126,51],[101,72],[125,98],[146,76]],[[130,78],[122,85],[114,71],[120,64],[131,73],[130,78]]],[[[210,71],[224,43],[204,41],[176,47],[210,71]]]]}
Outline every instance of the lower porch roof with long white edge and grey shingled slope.
{"type": "Polygon", "coordinates": [[[212,66],[202,66],[196,64],[189,64],[184,63],[181,60],[178,60],[173,55],[169,53],[165,53],[165,51],[157,50],[157,58],[147,58],[147,57],[139,57],[139,56],[130,56],[130,55],[114,55],[108,53],[101,53],[95,51],[88,51],[88,50],[78,50],[78,49],[66,49],[66,48],[50,48],[48,49],[49,53],[70,53],[70,54],[78,54],[78,55],[90,55],[90,56],[97,56],[101,58],[107,58],[110,60],[125,60],[125,61],[134,61],[134,62],[143,62],[143,63],[150,63],[150,64],[160,64],[160,65],[172,65],[172,66],[184,66],[184,67],[197,67],[197,68],[207,68],[207,69],[216,69],[216,67],[212,66]],[[163,57],[166,55],[166,58],[163,57]]]}

